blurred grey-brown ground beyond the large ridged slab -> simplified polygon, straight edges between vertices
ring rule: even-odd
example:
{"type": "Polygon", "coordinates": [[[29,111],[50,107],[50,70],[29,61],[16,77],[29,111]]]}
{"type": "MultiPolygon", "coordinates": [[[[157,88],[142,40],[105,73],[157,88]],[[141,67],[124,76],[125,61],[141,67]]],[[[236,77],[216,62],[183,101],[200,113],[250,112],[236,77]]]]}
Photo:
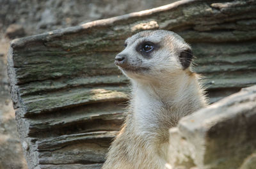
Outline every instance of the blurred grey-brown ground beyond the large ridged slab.
{"type": "Polygon", "coordinates": [[[174,0],[0,0],[0,169],[28,168],[17,133],[6,73],[11,40],[172,2],[174,0]]]}

